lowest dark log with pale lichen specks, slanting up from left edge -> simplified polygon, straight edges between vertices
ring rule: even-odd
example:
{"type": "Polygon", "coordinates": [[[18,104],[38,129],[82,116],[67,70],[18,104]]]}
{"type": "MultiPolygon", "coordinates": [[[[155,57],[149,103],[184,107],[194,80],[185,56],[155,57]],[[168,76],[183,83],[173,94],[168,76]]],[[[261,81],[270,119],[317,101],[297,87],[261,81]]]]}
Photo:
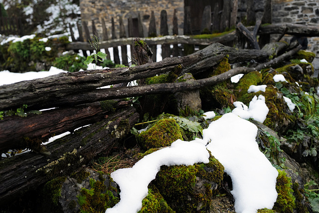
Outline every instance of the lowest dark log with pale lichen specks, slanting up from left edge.
{"type": "Polygon", "coordinates": [[[126,107],[49,143],[50,156],[28,152],[1,160],[0,206],[48,180],[71,175],[96,155],[107,152],[130,131],[138,117],[134,107],[126,107]]]}

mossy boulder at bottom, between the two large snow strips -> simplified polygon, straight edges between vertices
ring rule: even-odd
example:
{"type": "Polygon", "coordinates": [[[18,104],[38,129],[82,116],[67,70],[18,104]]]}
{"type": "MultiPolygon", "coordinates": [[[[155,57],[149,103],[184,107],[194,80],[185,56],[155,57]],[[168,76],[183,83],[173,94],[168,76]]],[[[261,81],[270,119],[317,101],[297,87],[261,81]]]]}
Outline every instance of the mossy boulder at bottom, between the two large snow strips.
{"type": "Polygon", "coordinates": [[[162,166],[154,185],[176,213],[208,213],[223,173],[224,167],[210,156],[207,164],[162,166]]]}

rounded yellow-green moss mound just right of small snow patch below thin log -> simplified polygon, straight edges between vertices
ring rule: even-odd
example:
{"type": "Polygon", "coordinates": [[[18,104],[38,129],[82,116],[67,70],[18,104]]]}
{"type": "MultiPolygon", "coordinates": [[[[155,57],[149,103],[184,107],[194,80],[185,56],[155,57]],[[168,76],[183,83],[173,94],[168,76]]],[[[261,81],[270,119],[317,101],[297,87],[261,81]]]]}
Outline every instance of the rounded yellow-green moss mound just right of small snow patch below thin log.
{"type": "Polygon", "coordinates": [[[237,98],[247,94],[247,90],[251,85],[258,85],[262,82],[262,74],[254,71],[244,75],[235,85],[237,98]]]}

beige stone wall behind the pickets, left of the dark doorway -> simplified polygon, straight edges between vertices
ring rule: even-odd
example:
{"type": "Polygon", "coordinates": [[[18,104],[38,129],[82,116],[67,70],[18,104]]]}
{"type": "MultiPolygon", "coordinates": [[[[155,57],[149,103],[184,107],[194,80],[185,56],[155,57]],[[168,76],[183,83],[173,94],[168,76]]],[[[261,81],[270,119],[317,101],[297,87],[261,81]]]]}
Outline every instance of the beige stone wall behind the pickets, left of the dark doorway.
{"type": "Polygon", "coordinates": [[[102,39],[102,18],[106,23],[109,38],[111,38],[112,22],[114,18],[116,37],[119,38],[119,17],[122,16],[128,35],[128,18],[137,18],[140,13],[143,22],[144,36],[148,36],[151,12],[154,11],[157,34],[160,35],[160,12],[167,12],[168,33],[172,34],[174,9],[177,10],[178,33],[183,34],[184,0],[80,0],[81,19],[88,21],[89,31],[92,32],[94,20],[100,39],[102,39]]]}

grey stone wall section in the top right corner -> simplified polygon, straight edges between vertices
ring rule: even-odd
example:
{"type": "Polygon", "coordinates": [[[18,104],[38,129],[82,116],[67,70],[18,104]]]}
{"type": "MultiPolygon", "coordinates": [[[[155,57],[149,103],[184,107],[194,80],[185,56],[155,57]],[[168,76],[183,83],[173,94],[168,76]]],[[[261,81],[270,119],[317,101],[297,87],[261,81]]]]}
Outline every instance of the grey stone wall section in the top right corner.
{"type": "MultiPolygon", "coordinates": [[[[273,23],[319,27],[319,0],[273,0],[273,23]]],[[[319,37],[308,38],[308,50],[319,56],[319,37]]]]}

